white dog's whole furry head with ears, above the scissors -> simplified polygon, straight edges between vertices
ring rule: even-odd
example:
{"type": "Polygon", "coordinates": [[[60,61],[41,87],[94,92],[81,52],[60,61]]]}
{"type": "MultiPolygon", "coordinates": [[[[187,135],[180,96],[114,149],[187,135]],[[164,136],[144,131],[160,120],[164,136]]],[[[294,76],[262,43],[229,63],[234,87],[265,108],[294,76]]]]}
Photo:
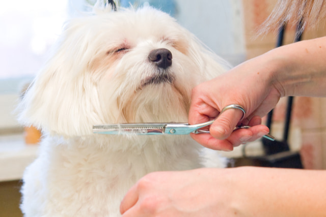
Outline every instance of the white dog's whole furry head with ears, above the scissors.
{"type": "Polygon", "coordinates": [[[192,88],[223,71],[152,8],[76,18],[26,92],[20,120],[64,136],[101,123],[187,122],[192,88]]]}

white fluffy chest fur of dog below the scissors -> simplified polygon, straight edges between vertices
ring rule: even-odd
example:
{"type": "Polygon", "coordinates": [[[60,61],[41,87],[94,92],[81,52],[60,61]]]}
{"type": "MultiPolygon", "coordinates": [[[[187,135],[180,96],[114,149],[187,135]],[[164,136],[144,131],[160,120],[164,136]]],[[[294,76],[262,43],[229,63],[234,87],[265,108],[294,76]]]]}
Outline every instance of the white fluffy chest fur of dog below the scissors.
{"type": "Polygon", "coordinates": [[[124,194],[145,174],[201,167],[198,145],[189,136],[135,137],[140,138],[118,136],[100,146],[79,139],[69,145],[44,140],[41,156],[24,177],[30,185],[23,191],[34,192],[25,200],[43,204],[34,214],[117,216],[124,194]]]}

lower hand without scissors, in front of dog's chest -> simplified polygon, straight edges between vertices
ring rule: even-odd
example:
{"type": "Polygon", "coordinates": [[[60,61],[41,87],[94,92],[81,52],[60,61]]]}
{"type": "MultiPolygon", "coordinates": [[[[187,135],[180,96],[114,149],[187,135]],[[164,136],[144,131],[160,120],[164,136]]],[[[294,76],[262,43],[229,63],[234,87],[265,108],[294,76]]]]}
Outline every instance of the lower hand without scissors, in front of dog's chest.
{"type": "Polygon", "coordinates": [[[128,191],[120,212],[123,217],[233,216],[233,178],[231,170],[216,168],[150,173],[128,191]]]}

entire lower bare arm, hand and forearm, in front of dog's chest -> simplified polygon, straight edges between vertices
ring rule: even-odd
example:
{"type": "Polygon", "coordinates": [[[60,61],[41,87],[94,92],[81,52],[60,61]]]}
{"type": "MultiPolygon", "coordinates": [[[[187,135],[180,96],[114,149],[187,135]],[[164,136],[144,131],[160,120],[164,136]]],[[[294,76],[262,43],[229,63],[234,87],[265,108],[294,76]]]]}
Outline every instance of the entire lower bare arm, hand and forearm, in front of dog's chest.
{"type": "Polygon", "coordinates": [[[325,216],[326,172],[239,167],[155,172],[123,199],[123,216],[325,216]]]}

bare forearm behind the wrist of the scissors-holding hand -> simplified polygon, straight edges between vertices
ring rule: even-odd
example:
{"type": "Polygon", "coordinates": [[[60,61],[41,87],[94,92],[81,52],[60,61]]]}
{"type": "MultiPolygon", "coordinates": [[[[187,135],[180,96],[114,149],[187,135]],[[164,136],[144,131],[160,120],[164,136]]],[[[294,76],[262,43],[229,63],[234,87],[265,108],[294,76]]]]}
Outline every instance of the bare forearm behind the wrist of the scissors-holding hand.
{"type": "Polygon", "coordinates": [[[281,96],[326,96],[326,37],[286,45],[264,55],[271,59],[266,67],[274,69],[273,83],[281,96]]]}

